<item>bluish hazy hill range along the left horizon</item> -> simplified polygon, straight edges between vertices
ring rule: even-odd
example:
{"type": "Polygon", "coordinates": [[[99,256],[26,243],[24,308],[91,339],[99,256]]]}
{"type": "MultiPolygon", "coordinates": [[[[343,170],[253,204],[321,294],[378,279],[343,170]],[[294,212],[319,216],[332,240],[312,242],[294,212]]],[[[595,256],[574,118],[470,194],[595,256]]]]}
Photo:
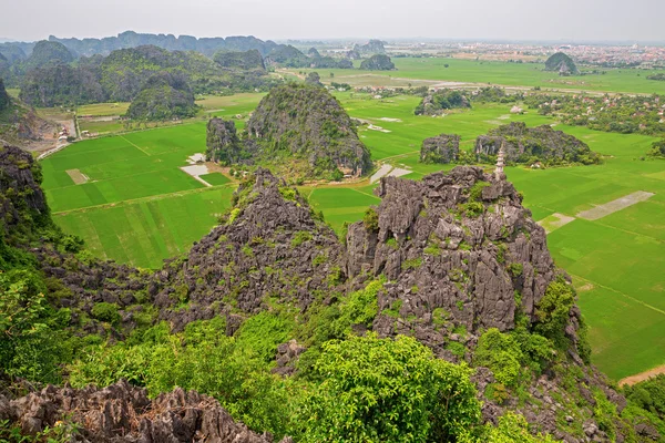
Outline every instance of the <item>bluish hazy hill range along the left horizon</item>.
{"type": "Polygon", "coordinates": [[[197,51],[206,55],[213,55],[219,50],[249,51],[257,50],[266,55],[277,47],[277,43],[268,40],[263,41],[253,35],[247,37],[214,37],[197,39],[192,35],[173,34],[143,34],[134,31],[125,31],[117,37],[105,37],[103,39],[60,39],[49,37],[49,41],[64,44],[70,51],[79,55],[109,54],[117,49],[136,48],[146,44],[162,48],[168,51],[197,51]]]}

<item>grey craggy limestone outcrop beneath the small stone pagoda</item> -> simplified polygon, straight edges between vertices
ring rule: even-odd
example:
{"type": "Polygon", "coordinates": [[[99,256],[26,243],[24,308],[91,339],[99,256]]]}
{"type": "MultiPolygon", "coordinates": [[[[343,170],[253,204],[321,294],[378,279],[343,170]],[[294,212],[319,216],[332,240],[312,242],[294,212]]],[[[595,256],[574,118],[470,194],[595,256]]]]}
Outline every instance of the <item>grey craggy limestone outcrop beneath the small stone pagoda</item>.
{"type": "Polygon", "coordinates": [[[422,182],[382,178],[376,194],[382,198],[378,228],[356,223],[347,236],[349,277],[383,274],[390,280],[379,298],[375,330],[413,329],[446,356],[454,326],[471,333],[512,329],[515,291],[523,312],[534,318],[557,270],[545,231],[512,184],[479,167],[458,166],[422,182]],[[381,315],[397,306],[398,322],[381,315]]]}

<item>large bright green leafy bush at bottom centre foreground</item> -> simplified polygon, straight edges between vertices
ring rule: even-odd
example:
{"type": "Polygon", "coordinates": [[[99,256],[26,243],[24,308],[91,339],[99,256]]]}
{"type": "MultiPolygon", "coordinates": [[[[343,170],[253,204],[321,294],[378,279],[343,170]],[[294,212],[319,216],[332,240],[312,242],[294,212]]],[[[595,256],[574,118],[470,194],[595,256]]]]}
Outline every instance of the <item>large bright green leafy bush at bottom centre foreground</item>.
{"type": "Polygon", "coordinates": [[[480,420],[469,369],[412,338],[330,341],[314,368],[324,381],[296,416],[301,441],[456,441],[480,420]]]}

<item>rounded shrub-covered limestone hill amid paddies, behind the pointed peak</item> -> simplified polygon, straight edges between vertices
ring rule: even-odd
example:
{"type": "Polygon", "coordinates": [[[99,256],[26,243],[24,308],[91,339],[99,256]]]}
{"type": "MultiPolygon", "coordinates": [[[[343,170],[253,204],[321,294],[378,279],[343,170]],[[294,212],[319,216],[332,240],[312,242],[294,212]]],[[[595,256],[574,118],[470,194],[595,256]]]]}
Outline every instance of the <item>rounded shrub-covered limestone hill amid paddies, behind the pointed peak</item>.
{"type": "Polygon", "coordinates": [[[242,143],[242,163],[269,164],[284,176],[341,178],[371,168],[369,150],[346,111],[325,89],[309,84],[274,87],[252,114],[242,143]]]}

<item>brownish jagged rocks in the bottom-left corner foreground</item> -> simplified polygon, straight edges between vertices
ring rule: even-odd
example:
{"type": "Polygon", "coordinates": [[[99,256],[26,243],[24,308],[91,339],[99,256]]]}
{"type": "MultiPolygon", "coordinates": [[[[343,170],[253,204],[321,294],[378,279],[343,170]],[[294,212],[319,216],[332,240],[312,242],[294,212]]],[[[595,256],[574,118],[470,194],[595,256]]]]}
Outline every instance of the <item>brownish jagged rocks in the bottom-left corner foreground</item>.
{"type": "MultiPolygon", "coordinates": [[[[234,422],[207,395],[177,388],[151,400],[145,389],[124,380],[103,389],[49,385],[16,400],[0,394],[0,420],[18,423],[23,433],[32,435],[66,420],[78,424],[75,441],[273,442],[272,435],[256,434],[243,423],[234,422]]],[[[285,437],[283,443],[290,441],[285,437]]]]}

